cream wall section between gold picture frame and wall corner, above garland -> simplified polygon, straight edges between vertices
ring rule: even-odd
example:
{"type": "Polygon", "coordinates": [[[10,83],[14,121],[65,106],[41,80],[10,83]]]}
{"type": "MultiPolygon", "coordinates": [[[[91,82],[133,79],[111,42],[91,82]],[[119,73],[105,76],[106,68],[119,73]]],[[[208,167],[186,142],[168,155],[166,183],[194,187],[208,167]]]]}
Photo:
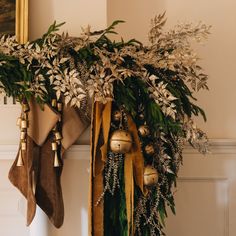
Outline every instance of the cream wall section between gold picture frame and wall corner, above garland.
{"type": "Polygon", "coordinates": [[[106,0],[29,0],[29,37],[40,37],[55,20],[66,22],[62,31],[76,36],[81,27],[106,27],[106,0]]]}

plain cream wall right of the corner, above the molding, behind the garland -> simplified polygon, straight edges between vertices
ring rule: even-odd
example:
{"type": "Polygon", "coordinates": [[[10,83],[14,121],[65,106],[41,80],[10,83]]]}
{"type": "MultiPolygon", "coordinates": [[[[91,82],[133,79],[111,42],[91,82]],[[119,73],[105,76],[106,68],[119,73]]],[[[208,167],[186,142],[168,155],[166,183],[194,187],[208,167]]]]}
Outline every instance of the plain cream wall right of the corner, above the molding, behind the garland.
{"type": "Polygon", "coordinates": [[[234,0],[113,0],[108,1],[108,22],[124,19],[119,28],[125,38],[147,41],[150,18],[166,11],[167,27],[178,21],[212,25],[210,40],[199,55],[209,74],[209,92],[197,95],[208,122],[199,121],[210,138],[236,138],[236,1],[234,0]]]}

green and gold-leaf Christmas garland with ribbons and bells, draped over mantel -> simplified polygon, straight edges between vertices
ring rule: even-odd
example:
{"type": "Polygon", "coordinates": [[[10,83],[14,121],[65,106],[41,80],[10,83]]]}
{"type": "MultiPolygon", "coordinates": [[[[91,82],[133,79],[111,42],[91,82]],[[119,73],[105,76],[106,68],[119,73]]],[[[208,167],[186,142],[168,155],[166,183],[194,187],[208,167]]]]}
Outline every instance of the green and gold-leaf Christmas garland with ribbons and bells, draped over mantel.
{"type": "MultiPolygon", "coordinates": [[[[206,39],[210,27],[181,24],[164,32],[165,21],[164,14],[151,21],[149,46],[110,40],[122,21],[96,32],[88,27],[80,37],[58,34],[61,24],[54,23],[33,42],[0,39],[1,92],[23,106],[22,151],[32,98],[59,113],[62,104],[76,107],[83,120],[91,119],[92,106],[91,167],[96,169],[99,158],[102,163],[96,197],[98,174],[91,176],[92,235],[163,235],[166,207],[175,213],[173,186],[184,144],[207,151],[207,137],[193,117],[206,119],[194,93],[208,89],[208,77],[191,40],[206,39]],[[97,209],[102,209],[100,234],[97,209]]],[[[52,150],[60,159],[58,127],[52,150]]],[[[59,162],[55,159],[55,167],[59,162]]]]}

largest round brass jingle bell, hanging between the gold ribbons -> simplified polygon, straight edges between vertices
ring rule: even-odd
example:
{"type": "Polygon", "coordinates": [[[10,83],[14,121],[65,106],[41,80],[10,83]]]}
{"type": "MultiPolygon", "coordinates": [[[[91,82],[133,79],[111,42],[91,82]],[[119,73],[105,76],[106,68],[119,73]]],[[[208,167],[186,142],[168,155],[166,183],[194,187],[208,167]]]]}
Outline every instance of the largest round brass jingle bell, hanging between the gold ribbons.
{"type": "Polygon", "coordinates": [[[132,147],[131,134],[125,130],[116,130],[110,138],[110,148],[114,153],[127,153],[132,147]]]}

